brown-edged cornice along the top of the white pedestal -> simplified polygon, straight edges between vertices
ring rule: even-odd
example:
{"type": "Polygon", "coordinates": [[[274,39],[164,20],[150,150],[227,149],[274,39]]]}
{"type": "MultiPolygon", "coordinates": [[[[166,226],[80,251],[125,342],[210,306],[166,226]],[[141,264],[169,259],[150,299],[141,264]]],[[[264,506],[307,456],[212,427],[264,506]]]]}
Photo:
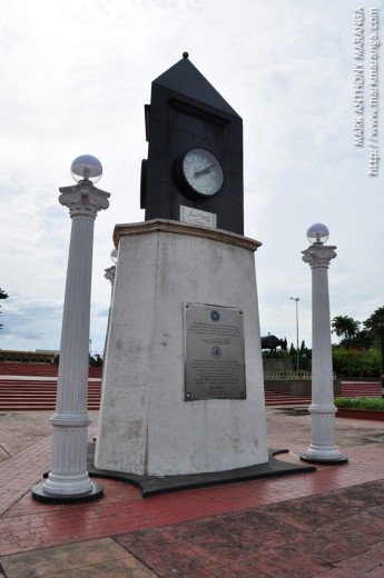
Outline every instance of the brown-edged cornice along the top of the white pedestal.
{"type": "Polygon", "coordinates": [[[211,227],[203,227],[199,225],[190,225],[167,219],[152,219],[128,225],[116,225],[114,230],[115,247],[118,248],[121,237],[149,232],[171,232],[174,235],[199,237],[200,239],[210,239],[227,245],[234,245],[235,247],[240,247],[254,252],[263,245],[249,237],[244,237],[243,235],[225,231],[223,229],[214,229],[211,227]]]}

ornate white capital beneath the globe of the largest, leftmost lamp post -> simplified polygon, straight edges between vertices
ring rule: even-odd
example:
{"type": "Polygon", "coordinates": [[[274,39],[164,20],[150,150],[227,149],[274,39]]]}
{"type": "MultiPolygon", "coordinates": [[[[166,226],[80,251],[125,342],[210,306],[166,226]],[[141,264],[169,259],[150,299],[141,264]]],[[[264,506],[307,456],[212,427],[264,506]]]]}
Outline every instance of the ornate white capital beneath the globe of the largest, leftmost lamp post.
{"type": "Polygon", "coordinates": [[[108,209],[110,192],[98,189],[91,181],[82,180],[78,185],[60,187],[59,202],[69,208],[70,217],[96,219],[98,211],[108,209]]]}

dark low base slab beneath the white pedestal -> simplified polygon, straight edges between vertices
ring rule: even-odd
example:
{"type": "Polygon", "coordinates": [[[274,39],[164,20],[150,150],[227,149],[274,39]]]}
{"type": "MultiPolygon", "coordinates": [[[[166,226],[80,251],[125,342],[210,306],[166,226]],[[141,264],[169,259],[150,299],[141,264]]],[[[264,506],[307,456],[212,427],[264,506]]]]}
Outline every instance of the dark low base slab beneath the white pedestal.
{"type": "Polygon", "coordinates": [[[217,484],[234,484],[237,481],[286,476],[289,474],[308,474],[316,471],[314,466],[298,466],[275,459],[275,456],[288,451],[287,449],[269,449],[268,461],[266,464],[257,464],[255,466],[227,471],[188,474],[183,476],[139,476],[137,474],[97,469],[93,461],[95,444],[88,444],[87,471],[90,477],[109,478],[132,484],[141,490],[144,498],[157,494],[201,488],[217,484]]]}

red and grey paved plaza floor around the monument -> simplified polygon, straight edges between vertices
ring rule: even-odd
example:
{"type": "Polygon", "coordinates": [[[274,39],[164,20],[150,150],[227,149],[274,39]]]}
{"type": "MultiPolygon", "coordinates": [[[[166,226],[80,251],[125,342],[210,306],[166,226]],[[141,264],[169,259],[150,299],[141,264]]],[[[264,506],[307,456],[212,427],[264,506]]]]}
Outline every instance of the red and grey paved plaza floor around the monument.
{"type": "MultiPolygon", "coordinates": [[[[97,479],[104,498],[62,506],[30,492],[50,466],[50,413],[0,413],[1,578],[384,578],[384,422],[336,418],[343,466],[145,499],[97,479]]],[[[301,464],[311,416],[267,419],[268,447],[301,464]]]]}

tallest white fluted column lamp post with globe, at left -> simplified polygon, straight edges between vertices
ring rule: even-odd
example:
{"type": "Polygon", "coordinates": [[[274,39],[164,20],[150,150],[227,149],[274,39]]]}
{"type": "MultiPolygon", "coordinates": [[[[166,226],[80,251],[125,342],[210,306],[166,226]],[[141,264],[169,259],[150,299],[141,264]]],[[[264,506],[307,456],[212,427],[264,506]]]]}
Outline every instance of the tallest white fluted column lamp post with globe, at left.
{"type": "Polygon", "coordinates": [[[53,426],[51,470],[32,488],[40,501],[80,501],[96,498],[102,487],[87,472],[89,318],[93,225],[98,211],[109,206],[109,192],[95,187],[101,163],[89,155],[71,166],[76,186],[60,188],[59,201],[72,219],[62,315],[60,363],[53,426]]]}

